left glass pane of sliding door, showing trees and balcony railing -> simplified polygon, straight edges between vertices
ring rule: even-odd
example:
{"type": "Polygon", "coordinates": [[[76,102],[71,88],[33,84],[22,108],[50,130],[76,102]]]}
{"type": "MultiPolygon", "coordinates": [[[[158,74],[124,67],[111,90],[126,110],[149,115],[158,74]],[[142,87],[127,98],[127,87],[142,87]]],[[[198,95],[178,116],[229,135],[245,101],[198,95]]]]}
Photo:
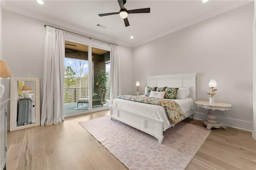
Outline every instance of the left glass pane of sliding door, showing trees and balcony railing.
{"type": "Polygon", "coordinates": [[[88,46],[65,42],[65,114],[89,109],[88,46]],[[82,101],[82,99],[84,99],[82,101]]]}

